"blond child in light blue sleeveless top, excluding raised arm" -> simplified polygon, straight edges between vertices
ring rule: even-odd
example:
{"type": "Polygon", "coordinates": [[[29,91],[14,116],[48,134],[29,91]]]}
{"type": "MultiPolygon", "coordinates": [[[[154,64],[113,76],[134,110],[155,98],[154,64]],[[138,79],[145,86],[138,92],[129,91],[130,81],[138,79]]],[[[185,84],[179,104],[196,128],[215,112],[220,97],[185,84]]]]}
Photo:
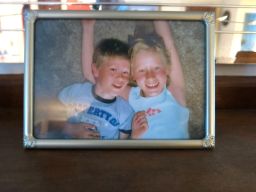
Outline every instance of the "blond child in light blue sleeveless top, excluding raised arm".
{"type": "MultiPolygon", "coordinates": [[[[129,92],[129,104],[136,114],[133,139],[187,139],[188,109],[184,96],[178,101],[168,89],[169,56],[161,43],[137,40],[131,49],[132,79],[138,87],[129,92]],[[180,103],[179,103],[180,102],[180,103]],[[183,105],[182,105],[182,104],[183,105]]],[[[175,90],[175,89],[174,89],[175,90]]]]}

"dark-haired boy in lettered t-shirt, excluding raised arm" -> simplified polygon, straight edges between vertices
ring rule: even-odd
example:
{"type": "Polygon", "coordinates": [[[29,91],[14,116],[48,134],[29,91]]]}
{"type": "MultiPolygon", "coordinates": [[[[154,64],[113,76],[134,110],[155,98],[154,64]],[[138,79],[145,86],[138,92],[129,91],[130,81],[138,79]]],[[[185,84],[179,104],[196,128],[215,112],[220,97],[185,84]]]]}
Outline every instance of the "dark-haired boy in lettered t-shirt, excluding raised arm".
{"type": "Polygon", "coordinates": [[[129,80],[128,45],[117,39],[102,40],[92,63],[94,85],[73,84],[59,94],[70,111],[64,132],[73,138],[127,139],[134,112],[118,95],[129,80]]]}

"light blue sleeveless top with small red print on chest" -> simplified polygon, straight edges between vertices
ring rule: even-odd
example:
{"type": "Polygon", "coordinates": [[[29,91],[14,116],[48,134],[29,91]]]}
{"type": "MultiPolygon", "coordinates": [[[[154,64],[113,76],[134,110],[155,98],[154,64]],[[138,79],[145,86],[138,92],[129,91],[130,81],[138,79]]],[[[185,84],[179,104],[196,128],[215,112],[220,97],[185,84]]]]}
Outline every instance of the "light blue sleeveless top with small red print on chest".
{"type": "Polygon", "coordinates": [[[148,130],[140,139],[188,139],[189,110],[180,105],[166,88],[154,97],[142,97],[141,89],[133,87],[129,103],[135,112],[145,111],[148,130]]]}

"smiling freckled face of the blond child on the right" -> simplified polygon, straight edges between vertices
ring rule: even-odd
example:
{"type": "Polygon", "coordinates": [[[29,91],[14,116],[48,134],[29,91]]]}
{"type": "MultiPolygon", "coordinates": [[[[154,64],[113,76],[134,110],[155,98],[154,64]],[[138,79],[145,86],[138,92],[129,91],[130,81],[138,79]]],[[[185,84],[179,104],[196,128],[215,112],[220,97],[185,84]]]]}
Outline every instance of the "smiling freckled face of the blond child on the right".
{"type": "Polygon", "coordinates": [[[133,79],[145,97],[159,95],[167,82],[167,69],[156,52],[139,51],[132,63],[133,79]]]}

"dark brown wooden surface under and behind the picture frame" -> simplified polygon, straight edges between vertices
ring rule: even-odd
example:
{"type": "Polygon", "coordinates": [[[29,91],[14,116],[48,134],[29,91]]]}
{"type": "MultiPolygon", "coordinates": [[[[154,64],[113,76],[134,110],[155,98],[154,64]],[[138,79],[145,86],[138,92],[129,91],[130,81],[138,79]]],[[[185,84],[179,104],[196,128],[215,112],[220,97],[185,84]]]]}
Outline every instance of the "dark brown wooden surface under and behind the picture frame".
{"type": "Polygon", "coordinates": [[[25,150],[23,75],[0,75],[0,191],[254,192],[256,79],[216,85],[213,150],[25,150]]]}

